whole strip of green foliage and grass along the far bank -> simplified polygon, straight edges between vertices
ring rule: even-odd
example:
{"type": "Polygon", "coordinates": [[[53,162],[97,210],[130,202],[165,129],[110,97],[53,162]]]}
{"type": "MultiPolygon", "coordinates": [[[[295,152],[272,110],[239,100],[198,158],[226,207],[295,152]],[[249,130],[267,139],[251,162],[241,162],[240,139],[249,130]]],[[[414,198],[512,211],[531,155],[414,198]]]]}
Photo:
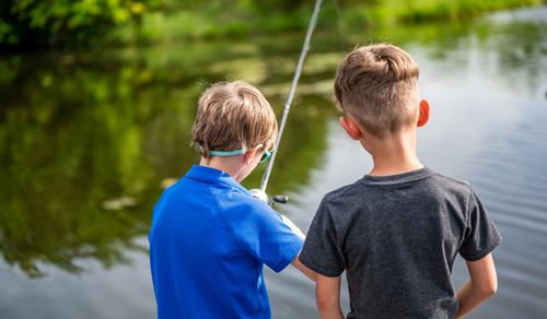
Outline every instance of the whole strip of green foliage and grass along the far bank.
{"type": "MultiPolygon", "coordinates": [[[[318,26],[382,26],[454,21],[545,0],[326,0],[318,26]]],[[[4,0],[0,48],[24,50],[149,45],[300,29],[313,1],[304,0],[4,0]]]]}

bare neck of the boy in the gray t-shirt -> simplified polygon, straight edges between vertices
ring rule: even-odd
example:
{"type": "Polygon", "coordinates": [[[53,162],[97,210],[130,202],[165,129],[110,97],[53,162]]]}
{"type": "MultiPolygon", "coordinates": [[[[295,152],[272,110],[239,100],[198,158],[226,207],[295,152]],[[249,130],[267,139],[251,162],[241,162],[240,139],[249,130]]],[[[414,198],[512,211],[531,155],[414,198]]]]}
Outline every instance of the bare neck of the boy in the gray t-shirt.
{"type": "Polygon", "coordinates": [[[416,155],[416,132],[395,134],[368,141],[363,146],[372,155],[374,166],[369,175],[397,175],[423,168],[416,155]]]}

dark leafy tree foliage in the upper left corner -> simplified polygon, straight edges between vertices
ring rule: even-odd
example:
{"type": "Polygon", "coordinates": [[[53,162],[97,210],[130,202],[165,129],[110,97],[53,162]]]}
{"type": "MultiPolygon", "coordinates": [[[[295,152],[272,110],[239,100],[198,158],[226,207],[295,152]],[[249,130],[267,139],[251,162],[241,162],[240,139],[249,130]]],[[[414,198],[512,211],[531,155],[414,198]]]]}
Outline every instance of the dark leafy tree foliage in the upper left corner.
{"type": "Polygon", "coordinates": [[[138,20],[156,1],[3,0],[0,44],[35,47],[83,44],[109,27],[138,20]]]}

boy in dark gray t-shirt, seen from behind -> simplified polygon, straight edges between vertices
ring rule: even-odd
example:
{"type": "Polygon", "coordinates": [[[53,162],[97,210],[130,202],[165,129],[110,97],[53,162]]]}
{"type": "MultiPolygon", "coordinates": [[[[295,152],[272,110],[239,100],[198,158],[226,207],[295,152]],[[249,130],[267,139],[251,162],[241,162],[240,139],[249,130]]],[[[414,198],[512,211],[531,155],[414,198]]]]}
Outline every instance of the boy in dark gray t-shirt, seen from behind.
{"type": "Polygon", "coordinates": [[[356,48],[336,72],[340,125],[372,155],[369,175],[326,194],[300,253],[318,273],[317,308],[342,318],[340,275],[347,273],[348,318],[463,317],[492,296],[491,251],[501,236],[469,184],[424,167],[416,128],[429,119],[419,69],[392,45],[356,48]],[[470,280],[456,293],[456,255],[470,280]]]}

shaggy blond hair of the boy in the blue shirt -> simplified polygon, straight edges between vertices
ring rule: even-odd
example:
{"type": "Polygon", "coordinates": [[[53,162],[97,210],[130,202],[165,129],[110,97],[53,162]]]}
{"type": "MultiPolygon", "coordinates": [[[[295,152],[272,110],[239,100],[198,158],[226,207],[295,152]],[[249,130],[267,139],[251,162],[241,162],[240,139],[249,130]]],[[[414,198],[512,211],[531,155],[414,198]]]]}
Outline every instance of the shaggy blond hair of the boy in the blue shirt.
{"type": "Polygon", "coordinates": [[[199,97],[191,145],[206,158],[210,151],[235,151],[258,144],[270,150],[277,130],[274,109],[256,87],[244,81],[220,82],[199,97]]]}

